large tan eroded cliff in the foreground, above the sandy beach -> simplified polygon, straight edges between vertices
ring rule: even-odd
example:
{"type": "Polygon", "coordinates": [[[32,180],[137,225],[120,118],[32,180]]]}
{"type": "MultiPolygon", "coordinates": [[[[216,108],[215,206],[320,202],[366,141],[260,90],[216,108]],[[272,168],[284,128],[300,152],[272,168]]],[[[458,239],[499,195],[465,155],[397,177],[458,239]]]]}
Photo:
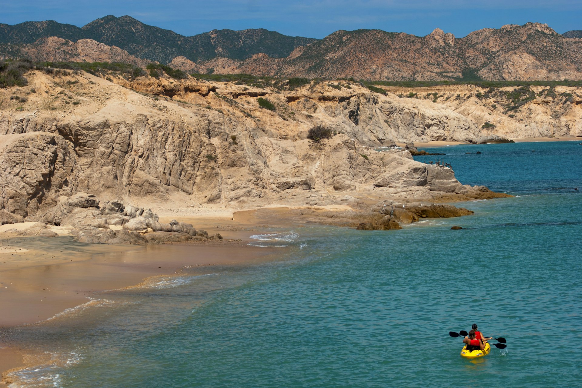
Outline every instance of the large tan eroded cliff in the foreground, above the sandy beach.
{"type": "Polygon", "coordinates": [[[374,151],[480,136],[470,119],[430,101],[356,84],[281,92],[196,79],[111,83],[72,72],[27,78],[26,87],[0,90],[0,209],[17,218],[43,219],[59,197],[76,193],[235,208],[481,195],[408,151],[374,151]],[[275,110],[261,108],[258,97],[275,110]],[[333,137],[308,140],[315,123],[333,137]]]}

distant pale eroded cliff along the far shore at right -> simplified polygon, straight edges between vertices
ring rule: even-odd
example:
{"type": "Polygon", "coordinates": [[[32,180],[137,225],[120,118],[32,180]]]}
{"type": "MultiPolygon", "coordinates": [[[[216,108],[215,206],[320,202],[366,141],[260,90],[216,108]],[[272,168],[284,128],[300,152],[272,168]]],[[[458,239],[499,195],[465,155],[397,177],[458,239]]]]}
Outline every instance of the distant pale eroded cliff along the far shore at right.
{"type": "Polygon", "coordinates": [[[381,87],[396,96],[413,95],[418,101],[416,104],[431,101],[432,106],[456,112],[474,124],[482,136],[582,136],[582,88],[579,87],[381,87]]]}

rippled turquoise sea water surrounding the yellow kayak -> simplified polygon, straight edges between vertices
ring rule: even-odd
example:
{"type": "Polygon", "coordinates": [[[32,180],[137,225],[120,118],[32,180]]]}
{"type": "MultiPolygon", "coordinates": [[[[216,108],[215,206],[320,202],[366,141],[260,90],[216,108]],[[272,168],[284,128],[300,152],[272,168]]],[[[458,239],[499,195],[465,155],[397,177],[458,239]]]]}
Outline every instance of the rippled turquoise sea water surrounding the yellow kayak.
{"type": "Polygon", "coordinates": [[[68,361],[19,386],[579,386],[582,145],[438,151],[418,160],[517,197],[397,231],[261,230],[257,244],[288,245],[274,261],[99,294],[15,330],[68,361]],[[448,332],[475,322],[508,348],[461,358],[448,332]]]}

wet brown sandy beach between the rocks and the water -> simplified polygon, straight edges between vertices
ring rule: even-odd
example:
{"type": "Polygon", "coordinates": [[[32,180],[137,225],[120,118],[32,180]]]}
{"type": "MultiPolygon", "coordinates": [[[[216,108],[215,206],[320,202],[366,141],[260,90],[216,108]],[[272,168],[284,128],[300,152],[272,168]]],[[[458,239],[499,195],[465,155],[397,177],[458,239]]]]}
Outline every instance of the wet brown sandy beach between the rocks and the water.
{"type": "MultiPolygon", "coordinates": [[[[27,225],[0,226],[0,330],[44,321],[90,301],[88,297],[98,291],[178,275],[184,266],[252,262],[272,253],[247,245],[256,233],[252,211],[233,220],[233,211],[226,209],[180,210],[158,209],[163,222],[179,219],[211,234],[220,233],[224,239],[165,245],[79,244],[66,230],[59,237],[22,237],[3,232],[27,225]]],[[[0,371],[25,365],[23,356],[0,334],[0,371]]]]}

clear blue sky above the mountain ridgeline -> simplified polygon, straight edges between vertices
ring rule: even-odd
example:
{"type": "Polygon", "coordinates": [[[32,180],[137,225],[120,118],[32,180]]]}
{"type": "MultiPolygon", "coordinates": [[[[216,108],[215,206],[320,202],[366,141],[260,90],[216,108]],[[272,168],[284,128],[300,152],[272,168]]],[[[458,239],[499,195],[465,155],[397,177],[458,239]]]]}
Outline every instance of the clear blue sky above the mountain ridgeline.
{"type": "Polygon", "coordinates": [[[105,15],[129,15],[183,35],[264,28],[313,38],[355,29],[423,36],[439,27],[463,37],[527,22],[548,23],[558,33],[582,30],[582,0],[0,0],[0,10],[0,23],[52,19],[80,27],[105,15]]]}

